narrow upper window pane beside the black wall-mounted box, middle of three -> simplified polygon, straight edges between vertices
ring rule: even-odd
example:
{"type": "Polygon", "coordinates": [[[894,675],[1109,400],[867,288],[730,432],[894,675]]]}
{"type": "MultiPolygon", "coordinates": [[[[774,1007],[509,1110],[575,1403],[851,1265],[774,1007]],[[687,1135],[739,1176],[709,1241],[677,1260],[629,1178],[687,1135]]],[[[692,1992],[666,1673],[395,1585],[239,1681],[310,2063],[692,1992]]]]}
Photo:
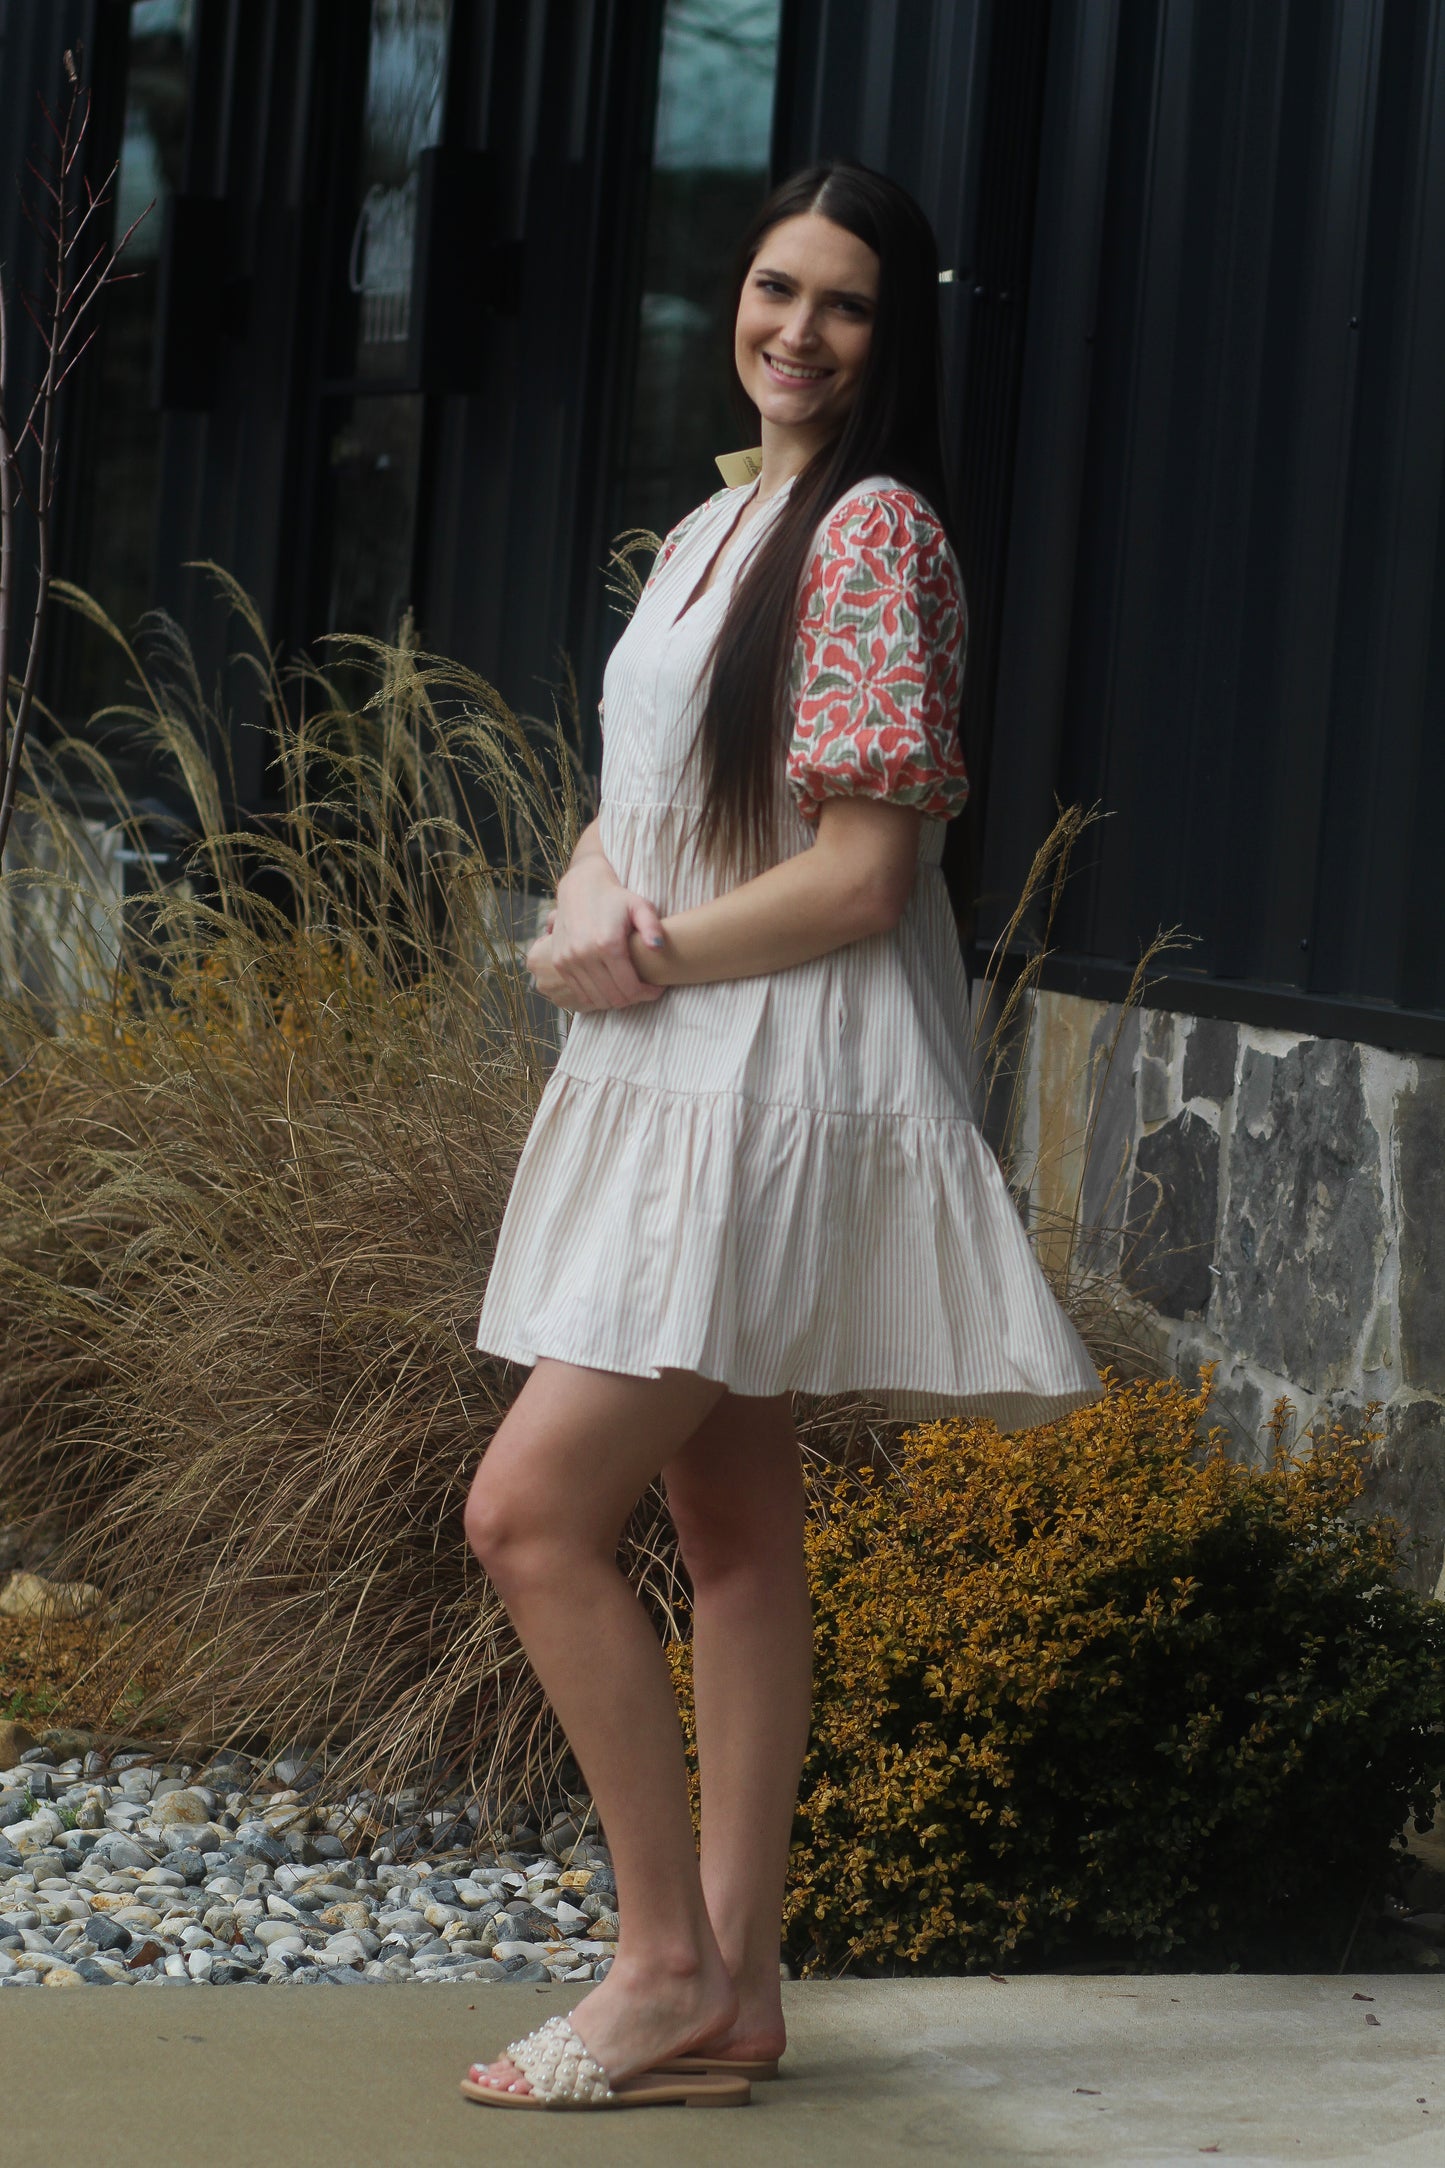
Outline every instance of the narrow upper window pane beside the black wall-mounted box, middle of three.
{"type": "Polygon", "coordinates": [[[355,373],[399,377],[412,332],[416,160],[442,141],[451,0],[370,0],[360,206],[347,282],[355,373]]]}

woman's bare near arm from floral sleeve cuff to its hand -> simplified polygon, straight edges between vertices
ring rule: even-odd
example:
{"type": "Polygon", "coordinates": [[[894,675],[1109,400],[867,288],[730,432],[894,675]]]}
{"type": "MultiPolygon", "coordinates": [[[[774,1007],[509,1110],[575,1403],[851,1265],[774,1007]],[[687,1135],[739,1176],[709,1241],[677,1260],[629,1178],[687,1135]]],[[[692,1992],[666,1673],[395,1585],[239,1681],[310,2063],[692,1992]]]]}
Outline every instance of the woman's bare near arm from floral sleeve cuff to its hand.
{"type": "MultiPolygon", "coordinates": [[[[830,798],[817,841],[771,865],[711,904],[695,904],[633,932],[633,971],[650,989],[700,986],[719,978],[758,978],[828,956],[849,941],[897,926],[919,867],[914,806],[875,798],[830,798]]],[[[544,937],[526,954],[537,989],[563,1008],[613,1008],[578,997],[572,973],[544,937]]]]}

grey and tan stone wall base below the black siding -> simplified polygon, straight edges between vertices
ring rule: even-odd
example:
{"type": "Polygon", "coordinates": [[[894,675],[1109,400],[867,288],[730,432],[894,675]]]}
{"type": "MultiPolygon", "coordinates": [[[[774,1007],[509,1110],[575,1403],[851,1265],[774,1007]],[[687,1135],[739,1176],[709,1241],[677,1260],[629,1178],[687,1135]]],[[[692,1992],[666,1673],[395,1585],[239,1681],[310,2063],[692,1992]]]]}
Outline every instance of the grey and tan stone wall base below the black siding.
{"type": "Polygon", "coordinates": [[[1077,1212],[1241,1455],[1280,1396],[1380,1403],[1369,1498],[1445,1596],[1445,1062],[1042,993],[1020,1106],[1044,1247],[1077,1212]]]}

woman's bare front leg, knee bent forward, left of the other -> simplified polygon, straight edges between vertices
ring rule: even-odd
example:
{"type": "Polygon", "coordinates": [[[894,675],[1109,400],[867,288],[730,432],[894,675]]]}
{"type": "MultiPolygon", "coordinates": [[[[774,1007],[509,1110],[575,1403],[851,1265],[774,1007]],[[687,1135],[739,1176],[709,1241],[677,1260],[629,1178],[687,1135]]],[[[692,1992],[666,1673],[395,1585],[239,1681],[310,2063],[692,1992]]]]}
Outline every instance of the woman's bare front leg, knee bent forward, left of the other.
{"type": "MultiPolygon", "coordinates": [[[[576,2014],[613,2077],[726,2029],[737,1995],[698,1875],[661,1643],[617,1572],[633,1505],[721,1385],[539,1362],[477,1470],[466,1533],[587,1778],[617,1873],[617,1962],[576,2014]]],[[[511,2064],[492,2066],[500,2083],[511,2064]]],[[[524,2081],[518,2081],[524,2083],[524,2081]]]]}

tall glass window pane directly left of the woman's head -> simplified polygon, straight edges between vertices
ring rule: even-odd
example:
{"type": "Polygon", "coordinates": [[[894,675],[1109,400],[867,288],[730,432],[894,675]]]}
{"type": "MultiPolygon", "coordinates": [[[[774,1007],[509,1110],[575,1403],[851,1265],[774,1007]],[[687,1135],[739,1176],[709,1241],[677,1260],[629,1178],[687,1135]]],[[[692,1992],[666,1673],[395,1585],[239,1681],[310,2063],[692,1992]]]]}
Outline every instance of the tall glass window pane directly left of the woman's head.
{"type": "Polygon", "coordinates": [[[730,275],[767,193],[780,0],[667,0],[622,527],[663,533],[739,447],[730,275]]]}

